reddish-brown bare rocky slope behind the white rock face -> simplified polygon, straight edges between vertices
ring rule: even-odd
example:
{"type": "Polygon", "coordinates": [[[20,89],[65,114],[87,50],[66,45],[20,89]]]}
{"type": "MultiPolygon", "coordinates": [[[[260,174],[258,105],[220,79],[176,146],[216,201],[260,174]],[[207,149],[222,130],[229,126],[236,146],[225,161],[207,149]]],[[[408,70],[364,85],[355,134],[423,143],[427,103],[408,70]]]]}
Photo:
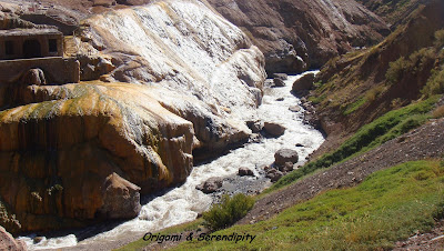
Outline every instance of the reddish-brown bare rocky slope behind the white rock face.
{"type": "Polygon", "coordinates": [[[384,21],[353,0],[209,0],[265,56],[266,71],[301,72],[382,40],[384,21]]]}

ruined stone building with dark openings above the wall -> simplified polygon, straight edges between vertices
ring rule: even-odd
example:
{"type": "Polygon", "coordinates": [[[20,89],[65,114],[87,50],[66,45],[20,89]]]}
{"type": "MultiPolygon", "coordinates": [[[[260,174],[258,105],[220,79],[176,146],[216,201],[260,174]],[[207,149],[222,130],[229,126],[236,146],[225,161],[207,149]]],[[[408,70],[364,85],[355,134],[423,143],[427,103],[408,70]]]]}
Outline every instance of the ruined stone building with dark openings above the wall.
{"type": "Polygon", "coordinates": [[[0,60],[63,56],[63,34],[57,29],[0,30],[0,60]]]}

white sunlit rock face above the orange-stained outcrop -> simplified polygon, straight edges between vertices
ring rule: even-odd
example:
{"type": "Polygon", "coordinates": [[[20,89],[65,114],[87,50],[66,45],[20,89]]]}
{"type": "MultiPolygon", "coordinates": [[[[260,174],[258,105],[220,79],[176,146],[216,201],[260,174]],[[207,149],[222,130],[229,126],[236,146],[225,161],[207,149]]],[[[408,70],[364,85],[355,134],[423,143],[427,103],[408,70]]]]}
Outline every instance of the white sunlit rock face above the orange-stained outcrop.
{"type": "Polygon", "coordinates": [[[199,1],[159,1],[87,20],[83,33],[112,58],[110,81],[163,87],[190,98],[162,104],[193,122],[196,148],[245,139],[243,122],[261,102],[264,58],[236,27],[199,1]]]}

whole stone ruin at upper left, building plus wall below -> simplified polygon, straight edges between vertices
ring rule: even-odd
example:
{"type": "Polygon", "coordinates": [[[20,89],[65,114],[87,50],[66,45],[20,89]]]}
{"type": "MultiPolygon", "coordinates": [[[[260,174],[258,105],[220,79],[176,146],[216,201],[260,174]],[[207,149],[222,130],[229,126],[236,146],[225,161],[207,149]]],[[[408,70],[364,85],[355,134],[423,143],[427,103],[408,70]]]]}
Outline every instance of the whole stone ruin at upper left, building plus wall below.
{"type": "Polygon", "coordinates": [[[63,58],[63,34],[56,28],[0,30],[0,86],[23,83],[30,70],[44,73],[48,84],[77,83],[80,66],[63,58]]]}

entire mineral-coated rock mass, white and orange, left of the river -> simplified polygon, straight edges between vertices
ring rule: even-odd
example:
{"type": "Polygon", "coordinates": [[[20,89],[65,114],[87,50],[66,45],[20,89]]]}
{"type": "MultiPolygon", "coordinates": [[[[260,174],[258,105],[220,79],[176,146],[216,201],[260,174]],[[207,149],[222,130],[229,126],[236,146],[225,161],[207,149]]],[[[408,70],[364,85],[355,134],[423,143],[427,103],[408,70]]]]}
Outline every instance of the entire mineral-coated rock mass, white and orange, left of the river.
{"type": "Polygon", "coordinates": [[[193,150],[250,134],[263,56],[205,3],[159,1],[84,23],[82,51],[103,58],[108,82],[1,88],[0,221],[10,232],[134,217],[140,193],[186,179],[193,150]]]}

